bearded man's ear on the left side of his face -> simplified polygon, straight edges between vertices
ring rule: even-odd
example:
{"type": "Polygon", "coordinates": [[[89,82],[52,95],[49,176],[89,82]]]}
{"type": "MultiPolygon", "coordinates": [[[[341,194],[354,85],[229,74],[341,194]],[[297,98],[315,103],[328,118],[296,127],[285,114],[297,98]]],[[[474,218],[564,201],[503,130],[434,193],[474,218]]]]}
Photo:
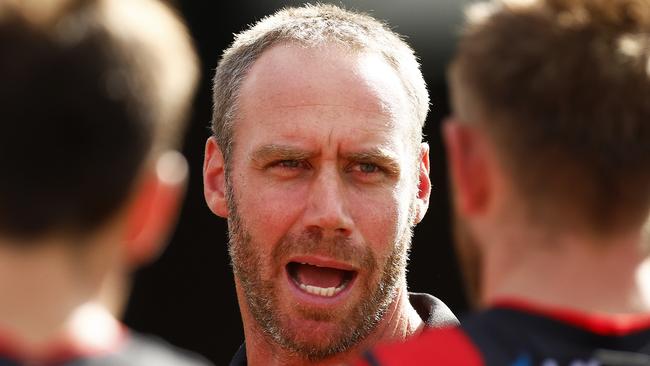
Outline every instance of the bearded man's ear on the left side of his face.
{"type": "Polygon", "coordinates": [[[214,137],[210,137],[205,143],[203,195],[205,202],[215,215],[228,217],[225,161],[221,148],[214,137]]]}

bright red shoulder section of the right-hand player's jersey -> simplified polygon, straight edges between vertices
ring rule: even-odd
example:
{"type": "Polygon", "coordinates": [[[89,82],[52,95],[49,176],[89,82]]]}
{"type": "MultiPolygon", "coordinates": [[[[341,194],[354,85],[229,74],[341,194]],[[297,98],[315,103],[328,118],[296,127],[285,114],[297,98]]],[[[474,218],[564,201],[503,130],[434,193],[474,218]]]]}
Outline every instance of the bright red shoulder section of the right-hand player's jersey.
{"type": "Polygon", "coordinates": [[[378,346],[366,352],[358,366],[378,365],[480,366],[482,357],[458,327],[428,329],[405,343],[378,346]]]}

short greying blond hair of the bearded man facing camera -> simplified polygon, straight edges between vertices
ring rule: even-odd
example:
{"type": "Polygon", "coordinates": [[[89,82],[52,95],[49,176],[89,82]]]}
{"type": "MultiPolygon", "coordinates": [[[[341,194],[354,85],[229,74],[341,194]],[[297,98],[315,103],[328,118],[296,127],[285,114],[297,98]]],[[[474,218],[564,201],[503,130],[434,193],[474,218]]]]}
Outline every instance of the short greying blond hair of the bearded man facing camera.
{"type": "Polygon", "coordinates": [[[260,55],[273,45],[295,42],[308,47],[335,43],[351,50],[380,53],[395,68],[412,103],[418,143],[429,111],[429,94],[411,47],[377,19],[333,5],[285,8],[237,34],[214,76],[212,131],[226,161],[233,145],[233,124],[241,84],[260,55]]]}

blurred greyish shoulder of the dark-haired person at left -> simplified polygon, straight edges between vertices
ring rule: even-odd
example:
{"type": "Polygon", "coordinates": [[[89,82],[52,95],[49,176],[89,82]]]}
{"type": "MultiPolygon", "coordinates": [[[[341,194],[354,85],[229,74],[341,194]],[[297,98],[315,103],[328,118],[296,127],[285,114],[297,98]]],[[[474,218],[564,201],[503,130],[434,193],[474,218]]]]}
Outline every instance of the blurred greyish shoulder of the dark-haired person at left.
{"type": "MultiPolygon", "coordinates": [[[[77,363],[75,363],[77,365],[77,363]]],[[[122,347],[114,352],[84,360],[83,366],[210,366],[204,358],[172,346],[164,340],[130,332],[122,347]]]]}

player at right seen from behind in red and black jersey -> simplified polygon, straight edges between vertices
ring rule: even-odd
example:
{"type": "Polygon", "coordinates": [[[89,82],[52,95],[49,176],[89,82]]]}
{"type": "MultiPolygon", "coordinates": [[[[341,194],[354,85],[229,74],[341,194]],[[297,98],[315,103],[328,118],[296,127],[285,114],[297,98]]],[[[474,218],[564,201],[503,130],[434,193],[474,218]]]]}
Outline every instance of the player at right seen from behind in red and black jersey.
{"type": "Polygon", "coordinates": [[[650,2],[469,8],[444,124],[480,311],[369,365],[650,365],[650,2]]]}

